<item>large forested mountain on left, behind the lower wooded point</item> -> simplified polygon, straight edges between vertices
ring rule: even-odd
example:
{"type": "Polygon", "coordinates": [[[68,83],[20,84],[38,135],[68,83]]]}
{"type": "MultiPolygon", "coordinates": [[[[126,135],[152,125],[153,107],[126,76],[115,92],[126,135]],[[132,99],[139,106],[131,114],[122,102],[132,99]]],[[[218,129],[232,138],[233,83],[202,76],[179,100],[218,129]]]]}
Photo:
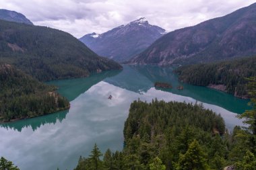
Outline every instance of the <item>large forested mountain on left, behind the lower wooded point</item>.
{"type": "Polygon", "coordinates": [[[0,62],[13,65],[40,81],[87,77],[121,69],[95,54],[66,32],[0,20],[0,62]]]}

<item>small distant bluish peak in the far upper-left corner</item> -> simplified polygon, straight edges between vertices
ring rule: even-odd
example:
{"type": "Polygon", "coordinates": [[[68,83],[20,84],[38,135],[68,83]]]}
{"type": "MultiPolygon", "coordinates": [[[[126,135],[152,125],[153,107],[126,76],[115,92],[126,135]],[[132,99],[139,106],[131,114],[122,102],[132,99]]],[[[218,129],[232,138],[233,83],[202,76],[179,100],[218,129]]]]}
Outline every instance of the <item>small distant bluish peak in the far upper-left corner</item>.
{"type": "Polygon", "coordinates": [[[7,9],[0,9],[0,19],[3,19],[8,22],[18,22],[28,25],[33,25],[32,22],[22,13],[16,11],[9,11],[7,9]]]}

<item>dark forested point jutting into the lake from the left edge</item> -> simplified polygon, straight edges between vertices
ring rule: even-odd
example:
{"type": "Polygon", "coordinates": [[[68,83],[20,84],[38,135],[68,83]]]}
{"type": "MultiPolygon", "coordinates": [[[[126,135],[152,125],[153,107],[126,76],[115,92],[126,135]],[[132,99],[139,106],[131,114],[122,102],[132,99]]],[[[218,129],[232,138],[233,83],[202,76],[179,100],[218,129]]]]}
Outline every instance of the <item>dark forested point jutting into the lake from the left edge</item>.
{"type": "Polygon", "coordinates": [[[11,65],[0,64],[0,121],[67,110],[69,101],[55,90],[11,65]]]}

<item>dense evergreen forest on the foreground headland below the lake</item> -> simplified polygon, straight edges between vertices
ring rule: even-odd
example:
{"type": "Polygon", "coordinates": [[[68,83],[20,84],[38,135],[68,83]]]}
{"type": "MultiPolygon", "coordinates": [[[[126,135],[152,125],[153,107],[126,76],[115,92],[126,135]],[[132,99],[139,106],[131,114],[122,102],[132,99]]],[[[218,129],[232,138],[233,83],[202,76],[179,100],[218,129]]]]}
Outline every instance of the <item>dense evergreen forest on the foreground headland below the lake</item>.
{"type": "Polygon", "coordinates": [[[201,104],[133,101],[124,128],[123,151],[102,155],[94,146],[80,169],[253,169],[255,145],[251,134],[236,127],[225,130],[220,115],[201,104]],[[103,156],[103,160],[100,157],[103,156]]]}

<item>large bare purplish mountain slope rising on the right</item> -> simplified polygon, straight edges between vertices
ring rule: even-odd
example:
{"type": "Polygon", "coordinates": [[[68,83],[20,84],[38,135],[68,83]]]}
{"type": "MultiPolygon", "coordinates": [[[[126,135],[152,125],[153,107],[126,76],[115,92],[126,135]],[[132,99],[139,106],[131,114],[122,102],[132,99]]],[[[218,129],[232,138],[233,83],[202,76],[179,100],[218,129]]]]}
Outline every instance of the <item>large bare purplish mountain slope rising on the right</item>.
{"type": "Polygon", "coordinates": [[[133,64],[188,64],[256,54],[256,3],[196,26],[170,32],[130,60],[133,64]]]}

